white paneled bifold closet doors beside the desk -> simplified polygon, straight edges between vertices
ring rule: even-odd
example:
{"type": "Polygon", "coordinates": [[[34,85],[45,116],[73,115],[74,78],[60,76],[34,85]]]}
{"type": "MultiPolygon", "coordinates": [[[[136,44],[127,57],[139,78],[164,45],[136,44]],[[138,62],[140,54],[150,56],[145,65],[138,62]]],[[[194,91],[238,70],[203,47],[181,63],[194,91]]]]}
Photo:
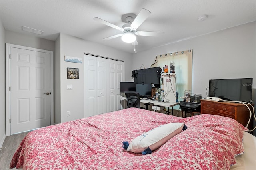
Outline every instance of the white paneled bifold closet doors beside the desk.
{"type": "Polygon", "coordinates": [[[124,62],[86,54],[84,61],[84,117],[120,110],[119,86],[124,80],[124,62]]]}

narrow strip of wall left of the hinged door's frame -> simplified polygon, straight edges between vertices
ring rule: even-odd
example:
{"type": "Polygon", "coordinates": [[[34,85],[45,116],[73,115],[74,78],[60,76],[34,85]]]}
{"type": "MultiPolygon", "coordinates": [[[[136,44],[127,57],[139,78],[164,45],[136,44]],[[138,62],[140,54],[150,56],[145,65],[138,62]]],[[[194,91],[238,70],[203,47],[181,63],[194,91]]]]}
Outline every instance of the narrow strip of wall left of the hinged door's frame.
{"type": "Polygon", "coordinates": [[[0,148],[5,138],[5,30],[0,19],[0,148]]]}

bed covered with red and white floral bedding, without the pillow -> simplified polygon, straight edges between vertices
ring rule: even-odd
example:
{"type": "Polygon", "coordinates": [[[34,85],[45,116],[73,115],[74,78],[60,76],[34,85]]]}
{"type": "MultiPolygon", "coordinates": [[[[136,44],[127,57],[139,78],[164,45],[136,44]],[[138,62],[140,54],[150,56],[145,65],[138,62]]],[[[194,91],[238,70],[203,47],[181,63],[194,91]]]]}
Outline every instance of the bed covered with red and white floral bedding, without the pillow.
{"type": "Polygon", "coordinates": [[[234,119],[222,116],[181,118],[128,108],[29,132],[14,153],[10,168],[246,169],[256,165],[252,150],[256,140],[247,130],[234,119]],[[187,129],[152,153],[134,153],[122,147],[122,142],[133,142],[145,132],[169,123],[184,123],[187,129]],[[244,144],[245,137],[249,146],[244,144]],[[247,155],[245,147],[251,150],[247,155]]]}

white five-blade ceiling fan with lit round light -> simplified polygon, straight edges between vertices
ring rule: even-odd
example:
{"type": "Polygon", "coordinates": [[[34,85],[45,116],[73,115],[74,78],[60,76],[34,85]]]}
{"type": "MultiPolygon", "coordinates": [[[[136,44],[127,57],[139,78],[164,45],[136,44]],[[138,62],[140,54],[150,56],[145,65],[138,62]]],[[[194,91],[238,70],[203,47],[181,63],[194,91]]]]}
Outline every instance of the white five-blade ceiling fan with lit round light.
{"type": "MultiPolygon", "coordinates": [[[[140,13],[136,16],[135,14],[124,14],[122,16],[122,21],[128,24],[124,24],[122,27],[116,26],[102,20],[101,18],[95,17],[94,20],[98,21],[102,24],[120,30],[122,33],[110,36],[107,38],[103,38],[103,40],[110,40],[112,38],[117,38],[122,36],[122,40],[127,43],[133,43],[133,45],[137,45],[136,36],[160,36],[164,34],[164,32],[152,32],[152,31],[138,31],[137,28],[150,16],[151,12],[142,8],[140,13]]],[[[135,49],[134,49],[135,50],[135,49]]]]}

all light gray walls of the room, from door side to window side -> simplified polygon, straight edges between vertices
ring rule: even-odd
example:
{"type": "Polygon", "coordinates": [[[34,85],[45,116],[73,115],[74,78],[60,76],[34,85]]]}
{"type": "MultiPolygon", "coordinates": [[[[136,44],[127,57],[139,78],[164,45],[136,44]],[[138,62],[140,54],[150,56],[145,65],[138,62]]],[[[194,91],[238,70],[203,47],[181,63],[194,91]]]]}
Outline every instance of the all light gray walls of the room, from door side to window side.
{"type": "Polygon", "coordinates": [[[84,52],[123,60],[124,80],[131,81],[131,71],[139,69],[142,64],[146,68],[150,67],[156,55],[193,49],[192,93],[201,93],[205,97],[209,79],[253,77],[253,99],[256,100],[256,22],[170,43],[133,55],[66,34],[60,34],[55,42],[18,34],[4,30],[2,22],[0,22],[0,37],[0,140],[5,137],[5,71],[3,71],[5,43],[54,51],[54,119],[56,123],[82,118],[84,111],[86,112],[84,77],[80,76],[79,80],[66,78],[66,67],[79,68],[82,75],[84,63],[64,61],[65,55],[84,59],[84,52]],[[67,91],[67,84],[73,84],[73,90],[67,91]],[[66,111],[69,110],[71,116],[67,117],[66,111]]]}

